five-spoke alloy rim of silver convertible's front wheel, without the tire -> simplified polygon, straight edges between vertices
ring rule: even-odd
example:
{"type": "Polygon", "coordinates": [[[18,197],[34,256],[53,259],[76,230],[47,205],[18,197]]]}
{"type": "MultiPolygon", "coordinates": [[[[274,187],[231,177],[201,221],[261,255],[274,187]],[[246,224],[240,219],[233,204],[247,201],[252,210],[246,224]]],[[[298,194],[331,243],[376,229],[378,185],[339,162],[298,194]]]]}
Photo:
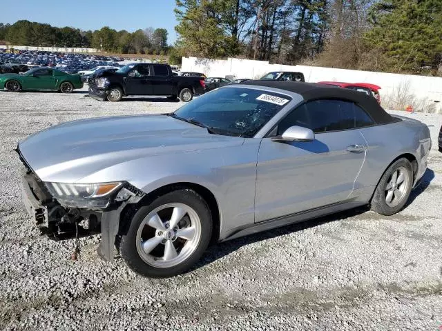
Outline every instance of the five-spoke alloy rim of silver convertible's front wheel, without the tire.
{"type": "Polygon", "coordinates": [[[136,245],[140,257],[155,268],[171,268],[188,259],[201,239],[201,220],[189,205],[167,203],[140,224],[136,245]]]}

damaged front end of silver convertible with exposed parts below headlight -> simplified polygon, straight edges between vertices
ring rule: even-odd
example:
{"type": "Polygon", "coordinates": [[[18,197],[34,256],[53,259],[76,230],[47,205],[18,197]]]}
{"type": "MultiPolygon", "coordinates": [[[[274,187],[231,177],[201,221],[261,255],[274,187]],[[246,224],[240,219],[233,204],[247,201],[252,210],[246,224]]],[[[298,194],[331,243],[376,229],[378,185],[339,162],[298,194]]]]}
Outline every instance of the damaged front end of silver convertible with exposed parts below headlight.
{"type": "MultiPolygon", "coordinates": [[[[18,149],[17,152],[19,152],[18,149]]],[[[144,197],[144,192],[125,183],[113,194],[111,203],[104,209],[73,208],[61,205],[52,197],[45,183],[27,165],[21,154],[20,159],[26,166],[21,176],[22,200],[30,215],[32,225],[37,226],[41,232],[53,239],[69,239],[79,235],[78,225],[86,221],[87,229],[81,228],[81,233],[101,232],[102,241],[98,253],[106,261],[113,261],[113,248],[122,212],[128,204],[138,203],[144,197]]]]}

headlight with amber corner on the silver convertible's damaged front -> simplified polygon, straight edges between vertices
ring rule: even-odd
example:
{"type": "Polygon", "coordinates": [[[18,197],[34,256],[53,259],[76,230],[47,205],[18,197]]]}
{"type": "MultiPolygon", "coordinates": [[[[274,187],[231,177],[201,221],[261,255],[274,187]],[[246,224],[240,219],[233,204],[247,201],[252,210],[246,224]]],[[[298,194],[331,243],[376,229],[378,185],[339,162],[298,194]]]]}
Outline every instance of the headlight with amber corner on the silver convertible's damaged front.
{"type": "Polygon", "coordinates": [[[122,182],[115,183],[46,183],[52,197],[57,199],[61,205],[78,208],[106,208],[110,197],[122,182]]]}

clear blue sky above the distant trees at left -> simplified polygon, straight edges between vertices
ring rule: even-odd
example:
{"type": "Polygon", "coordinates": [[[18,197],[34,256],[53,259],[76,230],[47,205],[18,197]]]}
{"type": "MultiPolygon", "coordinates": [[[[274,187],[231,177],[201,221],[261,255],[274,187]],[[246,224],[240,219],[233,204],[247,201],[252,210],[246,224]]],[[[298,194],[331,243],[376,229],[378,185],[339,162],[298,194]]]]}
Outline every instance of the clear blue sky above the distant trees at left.
{"type": "Polygon", "coordinates": [[[0,0],[0,22],[15,23],[27,19],[52,26],[72,26],[97,30],[109,26],[115,30],[166,28],[168,42],[176,39],[175,0],[0,0]]]}

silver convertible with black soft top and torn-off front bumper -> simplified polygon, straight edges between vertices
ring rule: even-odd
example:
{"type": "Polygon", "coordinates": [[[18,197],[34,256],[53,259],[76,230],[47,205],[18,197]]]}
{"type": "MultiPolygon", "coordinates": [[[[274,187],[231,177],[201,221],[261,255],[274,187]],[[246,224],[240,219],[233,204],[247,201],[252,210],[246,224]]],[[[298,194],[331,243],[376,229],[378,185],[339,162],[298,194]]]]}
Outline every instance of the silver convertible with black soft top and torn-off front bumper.
{"type": "Polygon", "coordinates": [[[135,272],[171,277],[211,241],[361,205],[400,211],[430,147],[427,126],[363,93],[247,81],[171,114],[53,126],[17,151],[36,225],[56,236],[96,227],[104,259],[116,246],[135,272]]]}

